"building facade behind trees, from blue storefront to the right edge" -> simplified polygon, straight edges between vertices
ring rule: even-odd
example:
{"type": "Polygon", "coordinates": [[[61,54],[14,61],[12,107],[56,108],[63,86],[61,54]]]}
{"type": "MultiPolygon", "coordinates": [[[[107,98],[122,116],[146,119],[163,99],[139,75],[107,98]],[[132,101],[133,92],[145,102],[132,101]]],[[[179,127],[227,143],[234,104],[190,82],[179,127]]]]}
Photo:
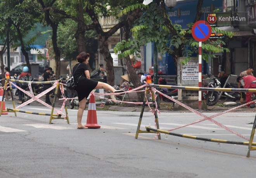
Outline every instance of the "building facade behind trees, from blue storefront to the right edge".
{"type": "MultiPolygon", "coordinates": [[[[167,8],[168,15],[173,24],[179,24],[187,29],[187,24],[194,21],[198,0],[180,0],[173,8],[167,8]]],[[[207,21],[207,12],[221,13],[219,15],[230,15],[229,22],[218,21],[217,27],[225,31],[235,32],[234,37],[225,37],[229,53],[215,54],[216,58],[202,61],[204,74],[218,75],[220,70],[227,71],[233,75],[239,75],[248,66],[255,64],[255,42],[256,42],[256,2],[254,0],[204,0],[201,20],[207,21]],[[224,12],[224,13],[223,13],[224,12]],[[237,20],[238,19],[238,20],[237,20]],[[240,21],[239,21],[240,19],[240,21]],[[236,21],[236,22],[235,22],[236,21]],[[255,30],[254,30],[255,29],[255,30]]],[[[218,15],[218,14],[217,14],[218,15]]],[[[225,16],[224,16],[225,17],[225,16]]],[[[218,35],[218,34],[215,34],[218,35]]],[[[213,39],[214,40],[214,39],[213,39]]],[[[185,56],[184,56],[185,57],[185,56]]],[[[169,54],[158,54],[158,66],[160,73],[176,75],[175,61],[169,54]]],[[[145,46],[145,70],[154,65],[153,46],[145,46]]]]}

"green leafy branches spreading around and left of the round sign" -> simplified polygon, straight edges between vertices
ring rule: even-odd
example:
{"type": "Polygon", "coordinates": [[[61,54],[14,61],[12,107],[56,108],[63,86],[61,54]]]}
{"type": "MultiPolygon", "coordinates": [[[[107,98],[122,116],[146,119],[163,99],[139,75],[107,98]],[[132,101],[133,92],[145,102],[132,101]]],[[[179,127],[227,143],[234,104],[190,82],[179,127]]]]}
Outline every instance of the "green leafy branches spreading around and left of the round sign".
{"type": "MultiPolygon", "coordinates": [[[[121,58],[133,53],[140,57],[140,47],[148,42],[155,42],[158,52],[162,54],[167,52],[174,59],[186,56],[187,59],[183,63],[186,63],[192,54],[198,54],[198,42],[193,39],[191,34],[193,23],[188,24],[188,29],[185,30],[182,29],[181,25],[172,24],[171,20],[168,19],[171,24],[170,29],[164,21],[166,19],[163,18],[163,13],[166,13],[165,9],[163,10],[156,4],[150,4],[149,8],[145,8],[144,14],[135,21],[131,29],[133,38],[119,42],[114,47],[114,52],[122,51],[123,53],[119,54],[121,58]],[[175,29],[174,32],[173,29],[175,29]],[[126,50],[123,51],[124,49],[126,50]]],[[[232,32],[221,31],[217,28],[212,28],[212,31],[222,33],[227,37],[233,36],[232,32]]],[[[208,61],[209,58],[214,57],[213,53],[229,52],[229,49],[223,46],[225,46],[223,39],[218,39],[217,41],[207,40],[202,44],[202,49],[204,50],[202,59],[208,61]]]]}

